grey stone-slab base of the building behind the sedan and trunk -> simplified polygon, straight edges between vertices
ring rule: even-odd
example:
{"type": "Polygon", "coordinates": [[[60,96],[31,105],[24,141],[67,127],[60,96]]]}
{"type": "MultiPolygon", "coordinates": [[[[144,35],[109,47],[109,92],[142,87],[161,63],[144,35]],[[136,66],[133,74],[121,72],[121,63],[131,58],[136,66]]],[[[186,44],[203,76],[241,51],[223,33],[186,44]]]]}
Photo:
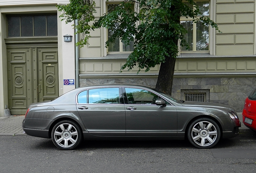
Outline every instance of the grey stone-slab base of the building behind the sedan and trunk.
{"type": "MultiPolygon", "coordinates": [[[[80,87],[94,84],[140,84],[155,87],[155,78],[80,78],[80,87]]],[[[172,96],[185,100],[186,93],[204,93],[205,101],[220,103],[242,112],[244,101],[256,87],[256,77],[177,77],[172,96]]]]}

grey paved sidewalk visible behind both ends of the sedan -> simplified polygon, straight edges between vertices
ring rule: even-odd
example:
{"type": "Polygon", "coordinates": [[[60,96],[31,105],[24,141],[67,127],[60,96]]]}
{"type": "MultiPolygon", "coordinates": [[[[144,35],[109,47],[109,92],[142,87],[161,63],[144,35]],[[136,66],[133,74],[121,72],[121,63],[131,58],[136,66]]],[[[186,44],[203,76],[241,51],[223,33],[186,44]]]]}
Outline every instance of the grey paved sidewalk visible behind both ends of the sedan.
{"type": "MultiPolygon", "coordinates": [[[[237,113],[241,122],[241,129],[248,129],[243,124],[242,113],[237,113]]],[[[0,117],[0,135],[25,135],[22,129],[22,121],[25,115],[13,115],[9,117],[0,117]]]]}

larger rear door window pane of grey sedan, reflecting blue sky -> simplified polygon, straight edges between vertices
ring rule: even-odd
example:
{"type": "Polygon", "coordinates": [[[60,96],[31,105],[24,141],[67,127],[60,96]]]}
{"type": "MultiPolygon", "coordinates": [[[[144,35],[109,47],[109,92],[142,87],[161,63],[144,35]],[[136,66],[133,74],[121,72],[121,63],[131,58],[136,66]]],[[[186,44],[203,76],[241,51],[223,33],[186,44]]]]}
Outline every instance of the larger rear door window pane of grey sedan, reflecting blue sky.
{"type": "Polygon", "coordinates": [[[120,104],[119,88],[100,88],[89,90],[91,104],[120,104]]]}

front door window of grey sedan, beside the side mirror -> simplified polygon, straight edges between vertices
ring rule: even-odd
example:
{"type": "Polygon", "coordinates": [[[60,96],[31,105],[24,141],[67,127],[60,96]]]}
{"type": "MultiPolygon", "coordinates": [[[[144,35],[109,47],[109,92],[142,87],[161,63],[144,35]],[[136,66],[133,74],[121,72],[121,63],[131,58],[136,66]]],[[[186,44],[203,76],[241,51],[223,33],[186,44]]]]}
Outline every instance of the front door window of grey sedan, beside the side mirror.
{"type": "Polygon", "coordinates": [[[129,104],[155,104],[155,100],[159,97],[150,91],[135,88],[125,88],[126,96],[129,104]]]}

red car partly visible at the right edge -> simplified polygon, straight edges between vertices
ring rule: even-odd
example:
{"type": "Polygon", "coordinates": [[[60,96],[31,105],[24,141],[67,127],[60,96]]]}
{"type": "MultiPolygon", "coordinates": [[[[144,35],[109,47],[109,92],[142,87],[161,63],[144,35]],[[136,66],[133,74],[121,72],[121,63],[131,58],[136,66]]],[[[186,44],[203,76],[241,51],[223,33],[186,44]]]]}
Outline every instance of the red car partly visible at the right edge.
{"type": "Polygon", "coordinates": [[[256,89],[246,98],[242,114],[244,125],[256,131],[256,89]]]}

